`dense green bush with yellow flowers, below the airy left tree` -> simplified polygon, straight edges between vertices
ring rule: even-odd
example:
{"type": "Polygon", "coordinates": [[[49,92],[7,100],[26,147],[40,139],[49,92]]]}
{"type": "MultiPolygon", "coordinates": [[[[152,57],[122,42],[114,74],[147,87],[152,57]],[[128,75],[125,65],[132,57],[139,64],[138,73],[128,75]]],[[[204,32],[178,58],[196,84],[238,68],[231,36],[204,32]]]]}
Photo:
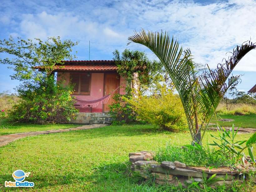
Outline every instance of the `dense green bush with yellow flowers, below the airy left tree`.
{"type": "Polygon", "coordinates": [[[13,105],[8,119],[38,124],[70,121],[70,115],[78,112],[70,95],[72,88],[54,81],[52,76],[39,85],[28,84],[27,89],[19,89],[20,100],[13,105]]]}

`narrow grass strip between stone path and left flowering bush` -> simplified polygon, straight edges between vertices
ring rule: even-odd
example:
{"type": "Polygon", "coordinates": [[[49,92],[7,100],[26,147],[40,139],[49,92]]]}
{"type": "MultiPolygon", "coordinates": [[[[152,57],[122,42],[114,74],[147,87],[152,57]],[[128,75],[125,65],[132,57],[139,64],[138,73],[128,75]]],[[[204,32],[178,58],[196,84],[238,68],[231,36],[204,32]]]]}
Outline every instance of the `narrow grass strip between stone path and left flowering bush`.
{"type": "Polygon", "coordinates": [[[0,118],[0,135],[8,135],[12,133],[22,133],[29,131],[45,131],[51,129],[68,129],[77,127],[77,124],[49,124],[36,125],[27,123],[8,123],[6,119],[0,118]]]}

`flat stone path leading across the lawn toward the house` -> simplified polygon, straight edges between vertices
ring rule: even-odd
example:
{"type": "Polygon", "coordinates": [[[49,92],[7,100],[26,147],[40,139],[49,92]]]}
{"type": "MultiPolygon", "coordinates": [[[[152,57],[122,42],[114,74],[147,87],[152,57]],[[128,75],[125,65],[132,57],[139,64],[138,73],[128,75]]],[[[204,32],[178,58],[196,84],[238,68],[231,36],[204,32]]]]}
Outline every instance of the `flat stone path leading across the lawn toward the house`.
{"type": "Polygon", "coordinates": [[[35,135],[45,135],[50,133],[60,133],[60,132],[67,132],[71,130],[85,130],[85,129],[94,129],[99,127],[108,126],[107,124],[92,124],[92,125],[84,125],[81,127],[69,128],[69,129],[58,129],[58,130],[46,130],[46,131],[31,131],[31,132],[24,132],[24,133],[14,133],[9,135],[1,135],[0,136],[0,147],[3,145],[7,145],[8,143],[20,139],[22,137],[27,136],[35,136],[35,135]]]}

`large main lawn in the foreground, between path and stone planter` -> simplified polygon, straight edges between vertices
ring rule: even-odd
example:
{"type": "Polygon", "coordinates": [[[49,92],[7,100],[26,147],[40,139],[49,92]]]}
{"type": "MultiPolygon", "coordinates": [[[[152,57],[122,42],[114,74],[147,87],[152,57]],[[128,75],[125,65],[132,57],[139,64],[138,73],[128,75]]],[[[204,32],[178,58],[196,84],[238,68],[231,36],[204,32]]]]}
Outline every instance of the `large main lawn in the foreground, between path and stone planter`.
{"type": "MultiPolygon", "coordinates": [[[[207,131],[205,143],[212,143],[209,134],[217,136],[207,131]]],[[[241,134],[239,140],[251,135],[241,134]]],[[[129,152],[157,151],[166,143],[190,144],[190,133],[127,125],[22,138],[0,147],[0,191],[177,191],[148,185],[130,172],[129,152]],[[33,188],[4,187],[17,169],[31,172],[26,180],[35,183],[33,188]]]]}

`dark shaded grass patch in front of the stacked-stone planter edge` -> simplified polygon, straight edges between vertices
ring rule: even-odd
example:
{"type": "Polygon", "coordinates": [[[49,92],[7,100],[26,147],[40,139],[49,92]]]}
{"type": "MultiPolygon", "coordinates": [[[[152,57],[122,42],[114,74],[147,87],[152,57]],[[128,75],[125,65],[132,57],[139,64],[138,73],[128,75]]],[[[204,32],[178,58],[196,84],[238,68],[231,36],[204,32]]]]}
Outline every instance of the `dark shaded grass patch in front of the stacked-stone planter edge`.
{"type": "Polygon", "coordinates": [[[178,191],[176,187],[156,185],[152,180],[141,177],[138,172],[132,172],[130,164],[127,161],[96,167],[90,177],[91,180],[95,180],[95,188],[92,191],[178,191]]]}

